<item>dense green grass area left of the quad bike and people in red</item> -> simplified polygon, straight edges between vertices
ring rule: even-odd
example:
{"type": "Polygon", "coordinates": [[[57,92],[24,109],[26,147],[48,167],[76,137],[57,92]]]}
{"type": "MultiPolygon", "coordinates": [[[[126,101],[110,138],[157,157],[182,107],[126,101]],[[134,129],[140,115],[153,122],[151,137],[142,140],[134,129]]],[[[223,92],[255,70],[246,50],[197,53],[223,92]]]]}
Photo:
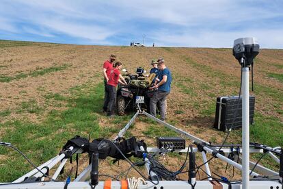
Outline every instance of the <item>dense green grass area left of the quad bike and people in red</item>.
{"type": "MultiPolygon", "coordinates": [[[[117,133],[120,127],[98,126],[103,92],[103,84],[98,84],[72,88],[72,96],[68,98],[50,95],[55,101],[66,102],[67,110],[51,110],[41,123],[19,120],[2,123],[0,127],[5,129],[5,136],[1,140],[11,142],[39,165],[57,155],[64,143],[77,134],[86,138],[89,134],[91,138],[109,137],[113,132],[117,133]]],[[[30,113],[40,111],[33,100],[22,103],[21,110],[30,113]]],[[[1,146],[0,154],[8,157],[0,161],[0,182],[12,181],[31,170],[31,166],[11,149],[1,146]]]]}

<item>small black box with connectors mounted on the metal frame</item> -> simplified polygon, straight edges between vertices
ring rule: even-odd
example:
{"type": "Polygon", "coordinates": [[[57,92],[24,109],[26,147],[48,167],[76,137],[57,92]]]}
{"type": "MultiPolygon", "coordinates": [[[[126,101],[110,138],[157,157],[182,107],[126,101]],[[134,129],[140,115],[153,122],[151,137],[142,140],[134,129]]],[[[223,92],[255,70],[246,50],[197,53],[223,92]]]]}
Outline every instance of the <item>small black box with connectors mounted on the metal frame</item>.
{"type": "Polygon", "coordinates": [[[185,149],[186,140],[180,137],[157,137],[157,147],[159,149],[173,147],[173,149],[185,149]]]}

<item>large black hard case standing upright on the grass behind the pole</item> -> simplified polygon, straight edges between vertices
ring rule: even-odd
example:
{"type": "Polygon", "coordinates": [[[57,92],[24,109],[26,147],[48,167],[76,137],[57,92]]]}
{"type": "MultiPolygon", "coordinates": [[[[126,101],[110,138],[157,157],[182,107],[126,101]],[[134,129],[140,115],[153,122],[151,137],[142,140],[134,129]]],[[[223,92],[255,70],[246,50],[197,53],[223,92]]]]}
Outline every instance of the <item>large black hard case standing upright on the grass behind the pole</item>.
{"type": "MultiPolygon", "coordinates": [[[[250,95],[250,124],[254,121],[255,97],[250,95]]],[[[226,131],[242,127],[242,97],[217,97],[214,128],[226,131]]]]}

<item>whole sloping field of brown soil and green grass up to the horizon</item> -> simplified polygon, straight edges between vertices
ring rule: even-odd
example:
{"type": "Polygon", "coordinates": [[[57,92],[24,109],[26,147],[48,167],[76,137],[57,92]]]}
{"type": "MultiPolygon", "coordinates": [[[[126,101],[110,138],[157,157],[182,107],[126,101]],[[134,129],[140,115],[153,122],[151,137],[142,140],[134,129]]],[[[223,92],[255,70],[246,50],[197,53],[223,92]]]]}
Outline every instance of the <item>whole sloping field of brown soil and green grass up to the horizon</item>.
{"type": "MultiPolygon", "coordinates": [[[[0,141],[11,142],[33,162],[42,164],[72,136],[116,136],[133,114],[107,118],[101,111],[102,64],[111,53],[131,72],[137,66],[149,70],[153,58],[163,57],[173,77],[167,122],[203,140],[222,142],[226,134],[213,129],[216,97],[237,95],[240,87],[241,68],[232,49],[104,47],[8,40],[0,40],[0,141]]],[[[255,124],[250,127],[252,142],[283,146],[282,73],[283,50],[262,49],[254,67],[252,94],[256,96],[256,113],[255,124]]],[[[152,138],[163,134],[160,128],[139,118],[127,136],[152,138]]],[[[171,133],[165,130],[165,134],[171,133]]],[[[154,144],[154,140],[149,141],[154,144]]],[[[241,129],[232,131],[228,142],[241,143],[241,129]]],[[[86,165],[87,157],[83,158],[82,164],[86,165]]],[[[168,157],[169,166],[174,158],[177,157],[168,157]]],[[[103,162],[105,166],[118,174],[119,167],[107,161],[103,162]]],[[[262,163],[274,168],[268,157],[262,163]]],[[[12,181],[31,169],[23,157],[4,147],[0,147],[0,165],[1,182],[12,181]]],[[[221,167],[218,169],[221,171],[221,167]]]]}

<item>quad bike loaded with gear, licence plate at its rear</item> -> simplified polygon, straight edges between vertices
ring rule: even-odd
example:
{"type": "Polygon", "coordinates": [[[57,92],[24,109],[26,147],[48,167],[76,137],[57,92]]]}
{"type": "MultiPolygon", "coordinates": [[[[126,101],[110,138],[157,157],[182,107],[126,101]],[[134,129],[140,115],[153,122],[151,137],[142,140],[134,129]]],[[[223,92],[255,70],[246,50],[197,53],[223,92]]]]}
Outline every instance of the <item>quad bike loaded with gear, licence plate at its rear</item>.
{"type": "Polygon", "coordinates": [[[150,84],[155,77],[155,74],[150,74],[149,77],[144,77],[144,68],[137,68],[136,74],[128,73],[125,69],[124,78],[127,85],[118,85],[117,90],[117,112],[119,116],[125,114],[126,110],[137,110],[139,103],[142,110],[150,111],[150,98],[153,96],[153,90],[149,90],[150,84]]]}

